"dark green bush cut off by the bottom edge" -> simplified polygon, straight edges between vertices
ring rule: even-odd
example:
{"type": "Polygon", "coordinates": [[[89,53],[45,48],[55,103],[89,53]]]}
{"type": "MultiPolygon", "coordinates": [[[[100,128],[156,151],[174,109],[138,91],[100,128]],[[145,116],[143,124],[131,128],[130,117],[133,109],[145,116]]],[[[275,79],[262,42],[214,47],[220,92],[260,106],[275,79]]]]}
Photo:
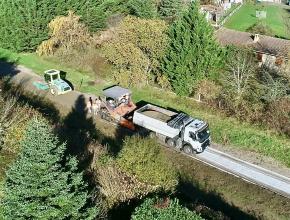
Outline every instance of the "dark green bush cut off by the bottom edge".
{"type": "Polygon", "coordinates": [[[179,204],[178,199],[146,199],[137,207],[132,215],[132,220],[202,220],[195,212],[179,204]]]}

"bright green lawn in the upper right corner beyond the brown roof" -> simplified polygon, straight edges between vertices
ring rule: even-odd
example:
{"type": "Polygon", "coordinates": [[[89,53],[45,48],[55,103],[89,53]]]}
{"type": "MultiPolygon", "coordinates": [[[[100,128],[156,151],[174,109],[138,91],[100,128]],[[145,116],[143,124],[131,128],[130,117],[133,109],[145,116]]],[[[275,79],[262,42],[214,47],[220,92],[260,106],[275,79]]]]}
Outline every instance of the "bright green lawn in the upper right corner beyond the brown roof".
{"type": "Polygon", "coordinates": [[[290,39],[285,27],[285,22],[290,22],[290,7],[286,5],[246,3],[227,20],[224,26],[238,31],[246,31],[259,21],[256,18],[256,10],[266,11],[267,17],[261,19],[261,21],[273,30],[273,34],[276,37],[290,39]]]}

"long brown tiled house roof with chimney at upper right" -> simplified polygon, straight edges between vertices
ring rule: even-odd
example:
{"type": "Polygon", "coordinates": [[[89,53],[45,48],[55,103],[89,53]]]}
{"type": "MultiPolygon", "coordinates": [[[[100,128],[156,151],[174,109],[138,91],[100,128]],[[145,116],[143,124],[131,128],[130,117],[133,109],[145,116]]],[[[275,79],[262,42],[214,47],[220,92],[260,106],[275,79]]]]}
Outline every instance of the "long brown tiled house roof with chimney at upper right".
{"type": "Polygon", "coordinates": [[[243,46],[254,49],[257,52],[274,56],[288,57],[290,40],[259,35],[259,40],[254,42],[254,34],[220,28],[216,31],[216,37],[220,44],[243,46]]]}

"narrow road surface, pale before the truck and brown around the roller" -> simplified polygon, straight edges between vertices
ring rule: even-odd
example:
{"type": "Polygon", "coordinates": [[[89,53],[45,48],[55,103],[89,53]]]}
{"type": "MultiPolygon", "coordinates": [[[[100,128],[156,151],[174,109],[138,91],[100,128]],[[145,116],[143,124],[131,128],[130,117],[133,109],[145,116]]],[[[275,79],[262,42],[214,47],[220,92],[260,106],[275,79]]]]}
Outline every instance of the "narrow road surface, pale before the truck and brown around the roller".
{"type": "MultiPolygon", "coordinates": [[[[23,89],[30,92],[33,91],[35,94],[48,98],[56,107],[66,108],[67,111],[70,111],[75,106],[79,97],[82,96],[85,99],[89,97],[88,94],[77,91],[60,96],[52,96],[48,91],[37,90],[33,86],[32,82],[41,80],[41,77],[30,69],[18,66],[16,72],[17,74],[12,78],[15,84],[21,84],[23,89]]],[[[285,176],[242,161],[213,148],[208,148],[203,153],[192,158],[290,198],[290,179],[285,176]]]]}

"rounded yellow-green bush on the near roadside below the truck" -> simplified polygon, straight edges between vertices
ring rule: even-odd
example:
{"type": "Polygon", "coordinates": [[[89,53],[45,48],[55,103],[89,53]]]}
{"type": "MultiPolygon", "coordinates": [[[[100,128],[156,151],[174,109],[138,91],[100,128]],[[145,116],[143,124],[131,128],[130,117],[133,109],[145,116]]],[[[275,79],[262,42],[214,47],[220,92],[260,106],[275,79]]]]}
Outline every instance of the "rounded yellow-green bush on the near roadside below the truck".
{"type": "Polygon", "coordinates": [[[117,163],[120,168],[149,185],[172,191],[178,183],[173,165],[152,139],[131,137],[124,141],[117,163]]]}

